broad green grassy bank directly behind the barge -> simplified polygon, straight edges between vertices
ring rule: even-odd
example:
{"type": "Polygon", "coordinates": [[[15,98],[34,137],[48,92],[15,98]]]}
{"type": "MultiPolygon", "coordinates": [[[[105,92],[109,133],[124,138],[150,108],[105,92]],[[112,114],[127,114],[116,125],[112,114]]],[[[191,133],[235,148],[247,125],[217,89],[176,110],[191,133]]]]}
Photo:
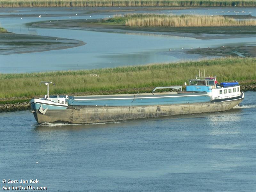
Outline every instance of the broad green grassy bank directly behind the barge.
{"type": "MultiPolygon", "coordinates": [[[[230,57],[214,60],[190,61],[146,66],[117,67],[79,71],[56,71],[0,75],[0,98],[34,97],[44,95],[46,86],[40,81],[52,81],[51,94],[102,92],[181,85],[194,78],[198,70],[218,76],[218,81],[255,80],[256,58],[230,57]],[[98,74],[98,76],[91,76],[98,74]]],[[[255,82],[254,82],[255,83],[255,82]]]]}

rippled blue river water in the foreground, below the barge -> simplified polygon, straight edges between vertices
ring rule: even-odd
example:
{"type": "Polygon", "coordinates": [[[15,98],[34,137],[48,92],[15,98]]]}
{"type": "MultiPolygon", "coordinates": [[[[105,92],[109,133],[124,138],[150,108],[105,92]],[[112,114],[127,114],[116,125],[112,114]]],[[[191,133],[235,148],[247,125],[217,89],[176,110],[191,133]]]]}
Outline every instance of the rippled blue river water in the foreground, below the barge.
{"type": "Polygon", "coordinates": [[[38,126],[20,111],[0,120],[1,182],[37,179],[32,186],[47,191],[256,190],[256,92],[221,113],[38,126]]]}

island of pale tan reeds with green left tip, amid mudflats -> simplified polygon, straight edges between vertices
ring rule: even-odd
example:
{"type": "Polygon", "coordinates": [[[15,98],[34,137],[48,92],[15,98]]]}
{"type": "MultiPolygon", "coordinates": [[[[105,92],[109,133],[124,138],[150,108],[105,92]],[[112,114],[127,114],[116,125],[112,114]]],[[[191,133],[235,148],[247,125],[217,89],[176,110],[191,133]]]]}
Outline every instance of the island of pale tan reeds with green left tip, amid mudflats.
{"type": "Polygon", "coordinates": [[[104,20],[130,27],[212,27],[256,26],[256,20],[235,20],[224,16],[126,14],[104,20]]]}

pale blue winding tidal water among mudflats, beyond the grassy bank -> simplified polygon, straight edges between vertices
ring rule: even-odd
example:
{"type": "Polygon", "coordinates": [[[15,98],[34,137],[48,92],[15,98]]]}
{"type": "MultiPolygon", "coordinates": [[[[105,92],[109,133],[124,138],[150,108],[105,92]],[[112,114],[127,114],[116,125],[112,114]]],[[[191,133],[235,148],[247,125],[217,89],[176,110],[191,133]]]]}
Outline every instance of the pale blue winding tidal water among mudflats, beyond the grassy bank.
{"type": "MultiPolygon", "coordinates": [[[[55,70],[78,70],[109,68],[150,63],[178,62],[198,60],[205,57],[198,54],[186,54],[191,47],[207,48],[220,46],[255,45],[255,37],[226,36],[217,39],[195,39],[150,33],[104,33],[72,29],[31,28],[29,22],[44,20],[100,19],[115,14],[131,12],[172,13],[172,14],[233,14],[256,15],[254,8],[192,8],[181,10],[143,10],[142,8],[1,8],[1,26],[10,32],[69,38],[87,44],[64,50],[31,52],[14,55],[1,55],[1,73],[24,73],[55,70]],[[118,10],[120,9],[120,11],[118,10]],[[235,13],[234,13],[235,14],[235,13]],[[39,18],[38,15],[41,15],[39,18]],[[69,18],[71,17],[71,18],[69,18]],[[22,19],[21,19],[22,18],[22,19]],[[183,48],[183,49],[182,49],[183,48]],[[169,52],[169,49],[180,53],[169,52]]],[[[238,53],[239,54],[239,53],[238,53]]],[[[213,58],[216,56],[208,56],[213,58]]]]}

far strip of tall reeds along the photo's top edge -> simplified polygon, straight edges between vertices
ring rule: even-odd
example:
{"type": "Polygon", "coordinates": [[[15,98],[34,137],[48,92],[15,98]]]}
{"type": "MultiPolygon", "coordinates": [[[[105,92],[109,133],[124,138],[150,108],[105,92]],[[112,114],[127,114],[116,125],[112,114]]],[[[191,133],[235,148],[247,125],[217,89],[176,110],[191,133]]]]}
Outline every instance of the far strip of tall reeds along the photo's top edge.
{"type": "Polygon", "coordinates": [[[0,3],[1,7],[256,6],[254,0],[1,0],[0,3]]]}

